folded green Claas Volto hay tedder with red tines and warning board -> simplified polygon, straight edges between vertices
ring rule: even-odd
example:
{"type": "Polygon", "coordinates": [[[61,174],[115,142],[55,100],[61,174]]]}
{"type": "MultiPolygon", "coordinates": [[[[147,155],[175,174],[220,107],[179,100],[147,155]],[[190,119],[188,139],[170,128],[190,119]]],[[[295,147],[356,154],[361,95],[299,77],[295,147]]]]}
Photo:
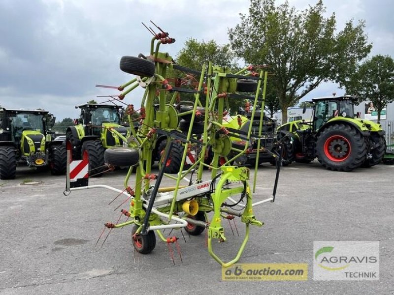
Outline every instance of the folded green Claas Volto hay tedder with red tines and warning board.
{"type": "MultiPolygon", "coordinates": [[[[104,230],[132,225],[132,244],[135,250],[142,254],[148,254],[155,248],[155,232],[169,245],[176,243],[178,237],[165,236],[165,229],[171,229],[171,232],[185,230],[192,236],[207,230],[209,254],[222,266],[227,267],[239,260],[249,238],[250,226],[263,225],[263,222],[256,219],[253,208],[275,201],[281,162],[280,148],[277,154],[273,154],[277,158],[273,193],[270,197],[253,203],[252,192],[254,193],[256,188],[258,161],[253,187],[249,183],[249,168],[230,165],[250,148],[248,144],[243,149],[232,147],[230,137],[250,142],[252,124],[247,131],[241,130],[240,126],[224,126],[224,117],[230,109],[231,100],[253,100],[253,120],[254,112],[258,109],[258,97],[261,95],[263,102],[260,107],[263,110],[267,71],[264,66],[248,66],[232,74],[230,69],[212,66],[211,62],[207,67],[202,65],[201,71],[183,67],[176,64],[167,53],[159,51],[162,45],[171,44],[175,39],[159,27],[156,28],[158,33],[149,28],[153,34],[149,56],[124,56],[120,61],[121,70],[136,77],[116,87],[122,91],[116,99],[123,100],[138,86],[145,89],[138,116],[140,127],[133,127],[132,117],[135,116],[132,115],[136,111],[133,107],[127,108],[131,126],[130,137],[124,141],[123,147],[108,148],[104,153],[107,165],[130,166],[124,189],[104,184],[88,185],[88,161],[71,162],[69,157],[65,195],[70,191],[86,188],[106,188],[116,192],[118,196],[125,195],[127,199],[124,203],[128,202],[130,207],[122,209],[121,216],[126,215],[128,220],[123,223],[107,222],[104,230]],[[171,80],[167,78],[169,70],[176,70],[185,76],[171,80]],[[186,80],[188,83],[182,82],[186,80]],[[172,81],[175,82],[174,85],[171,85],[172,81]],[[195,86],[191,89],[185,85],[195,86]],[[179,100],[183,93],[193,94],[193,103],[189,101],[183,104],[179,100]],[[161,156],[159,172],[153,174],[153,147],[163,135],[167,137],[166,147],[161,156]],[[180,161],[179,173],[170,175],[165,173],[165,166],[171,158],[174,145],[182,145],[183,158],[180,161]],[[196,161],[185,168],[185,159],[191,149],[197,151],[196,161]],[[212,152],[211,157],[206,156],[208,149],[212,152]],[[203,173],[204,167],[211,172],[203,173]],[[132,174],[133,170],[135,175],[132,174]],[[210,177],[203,179],[203,176],[208,174],[210,177]],[[129,184],[131,175],[135,179],[132,185],[129,184]],[[163,186],[164,177],[173,182],[172,186],[163,186]],[[181,181],[185,181],[186,185],[181,185],[181,181]],[[224,262],[213,250],[213,240],[225,242],[222,221],[236,217],[245,225],[245,236],[235,257],[224,262]]],[[[260,135],[262,124],[263,116],[260,117],[260,135]]],[[[259,152],[260,139],[257,138],[257,141],[259,152]]],[[[68,150],[68,156],[70,153],[71,150],[68,150]]]]}

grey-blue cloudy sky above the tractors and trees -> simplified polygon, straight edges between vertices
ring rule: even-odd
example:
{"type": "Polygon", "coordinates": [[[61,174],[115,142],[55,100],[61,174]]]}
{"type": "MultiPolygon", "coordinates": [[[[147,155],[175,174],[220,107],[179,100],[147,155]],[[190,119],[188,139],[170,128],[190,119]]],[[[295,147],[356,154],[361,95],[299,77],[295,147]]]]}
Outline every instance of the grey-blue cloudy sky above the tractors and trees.
{"type": "MultiPolygon", "coordinates": [[[[316,2],[289,0],[297,10],[316,2]]],[[[392,0],[323,2],[327,16],[335,13],[338,30],[350,19],[366,21],[370,57],[394,57],[392,0]]],[[[74,106],[119,94],[96,84],[119,86],[133,78],[119,69],[119,60],[149,53],[152,35],[141,22],[152,20],[176,39],[161,47],[176,58],[189,38],[228,43],[228,29],[248,8],[249,0],[0,0],[0,105],[46,109],[57,120],[77,118],[74,106]]],[[[333,92],[344,91],[326,83],[303,100],[333,92]]],[[[139,105],[142,93],[139,89],[124,101],[139,105]]]]}

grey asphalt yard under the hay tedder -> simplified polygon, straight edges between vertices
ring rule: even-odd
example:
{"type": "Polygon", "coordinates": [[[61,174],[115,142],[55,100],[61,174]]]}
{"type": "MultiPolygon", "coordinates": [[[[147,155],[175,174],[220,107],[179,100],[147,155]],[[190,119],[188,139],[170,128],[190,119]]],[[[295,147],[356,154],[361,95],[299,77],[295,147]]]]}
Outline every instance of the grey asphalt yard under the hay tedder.
{"type": "MultiPolygon", "coordinates": [[[[156,170],[157,171],[157,170],[156,170]]],[[[90,179],[123,189],[125,170],[90,179]]],[[[204,179],[209,179],[209,172],[204,179]]],[[[272,194],[275,168],[259,168],[254,202],[272,194]]],[[[133,185],[131,177],[131,186],[133,185]]],[[[274,203],[254,208],[262,228],[252,227],[239,263],[306,263],[307,281],[222,280],[221,266],[208,254],[205,235],[180,232],[182,263],[166,243],[149,255],[136,254],[131,227],[114,229],[96,246],[104,222],[115,223],[125,199],[104,189],[64,196],[66,178],[18,168],[0,181],[0,294],[394,294],[394,166],[350,173],[325,170],[314,161],[281,170],[274,203]],[[313,279],[314,241],[379,241],[379,281],[313,279]]],[[[253,182],[253,171],[251,173],[253,182]]],[[[126,219],[122,217],[121,221],[126,219]]],[[[244,232],[215,244],[224,260],[235,255],[244,232]]],[[[233,228],[234,230],[234,228],[233,228]]],[[[169,234],[169,231],[164,234],[169,234]]]]}

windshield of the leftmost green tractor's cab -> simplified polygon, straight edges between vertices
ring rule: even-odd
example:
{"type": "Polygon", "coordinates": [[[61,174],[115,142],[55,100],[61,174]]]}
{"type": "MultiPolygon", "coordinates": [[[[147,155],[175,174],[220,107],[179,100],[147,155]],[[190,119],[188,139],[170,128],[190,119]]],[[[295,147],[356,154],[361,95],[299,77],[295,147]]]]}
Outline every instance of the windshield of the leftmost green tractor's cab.
{"type": "Polygon", "coordinates": [[[25,130],[35,130],[43,133],[42,115],[16,114],[11,121],[12,141],[19,141],[22,138],[22,132],[25,130]]]}

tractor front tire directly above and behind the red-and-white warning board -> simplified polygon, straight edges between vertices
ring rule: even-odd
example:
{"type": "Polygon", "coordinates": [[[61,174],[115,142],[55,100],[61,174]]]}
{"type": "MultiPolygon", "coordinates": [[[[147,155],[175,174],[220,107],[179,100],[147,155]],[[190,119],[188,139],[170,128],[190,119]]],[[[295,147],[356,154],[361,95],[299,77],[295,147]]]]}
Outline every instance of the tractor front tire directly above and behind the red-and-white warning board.
{"type": "Polygon", "coordinates": [[[104,171],[105,149],[99,140],[88,140],[82,144],[82,159],[89,160],[89,177],[100,177],[104,171]]]}

